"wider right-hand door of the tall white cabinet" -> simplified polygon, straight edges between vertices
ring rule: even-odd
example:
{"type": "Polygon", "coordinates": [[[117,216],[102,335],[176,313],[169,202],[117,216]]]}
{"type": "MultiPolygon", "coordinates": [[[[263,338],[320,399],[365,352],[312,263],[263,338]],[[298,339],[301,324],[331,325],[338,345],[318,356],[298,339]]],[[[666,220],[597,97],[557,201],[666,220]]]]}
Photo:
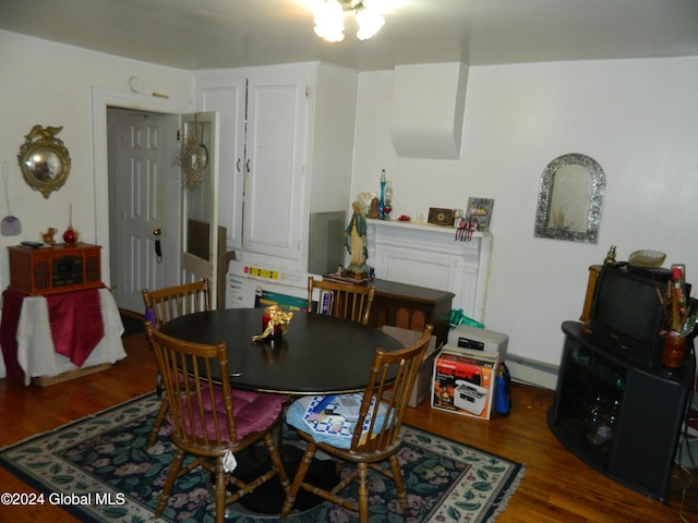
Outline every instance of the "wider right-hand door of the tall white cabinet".
{"type": "Polygon", "coordinates": [[[309,75],[270,73],[248,81],[245,251],[300,258],[305,209],[309,75]]]}

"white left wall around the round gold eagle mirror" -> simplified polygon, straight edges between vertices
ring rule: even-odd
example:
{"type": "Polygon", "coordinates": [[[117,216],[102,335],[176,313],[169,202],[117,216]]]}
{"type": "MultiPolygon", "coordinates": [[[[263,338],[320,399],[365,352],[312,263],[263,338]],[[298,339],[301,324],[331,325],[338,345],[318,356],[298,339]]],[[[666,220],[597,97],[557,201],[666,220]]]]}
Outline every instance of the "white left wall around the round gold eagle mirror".
{"type": "MultiPolygon", "coordinates": [[[[7,246],[40,241],[49,227],[60,233],[73,204],[73,227],[81,240],[95,242],[94,144],[92,88],[129,92],[129,77],[144,81],[144,94],[159,93],[190,101],[191,73],[0,31],[0,165],[10,167],[12,214],[22,235],[0,236],[0,289],[9,283],[7,246]],[[36,124],[63,126],[58,137],[70,153],[68,181],[48,199],[24,183],[17,153],[36,124]]],[[[8,212],[0,184],[0,219],[8,212]]],[[[57,235],[57,240],[62,241],[57,235]]],[[[103,260],[106,263],[106,260],[103,260]]]]}

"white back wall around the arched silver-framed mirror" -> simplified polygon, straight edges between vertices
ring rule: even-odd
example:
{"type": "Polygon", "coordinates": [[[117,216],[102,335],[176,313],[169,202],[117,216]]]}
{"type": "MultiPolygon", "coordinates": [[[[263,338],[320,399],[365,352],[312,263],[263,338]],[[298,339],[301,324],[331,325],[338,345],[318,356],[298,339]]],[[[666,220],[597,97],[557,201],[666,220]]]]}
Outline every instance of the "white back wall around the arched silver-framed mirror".
{"type": "Polygon", "coordinates": [[[561,323],[579,318],[611,245],[618,259],[663,251],[698,284],[698,59],[471,68],[460,160],[396,157],[392,89],[392,72],[361,75],[352,197],[378,191],[385,168],[394,216],[495,198],[484,323],[510,353],[558,364],[561,323]],[[605,172],[598,244],[533,238],[541,173],[567,153],[605,172]]]}

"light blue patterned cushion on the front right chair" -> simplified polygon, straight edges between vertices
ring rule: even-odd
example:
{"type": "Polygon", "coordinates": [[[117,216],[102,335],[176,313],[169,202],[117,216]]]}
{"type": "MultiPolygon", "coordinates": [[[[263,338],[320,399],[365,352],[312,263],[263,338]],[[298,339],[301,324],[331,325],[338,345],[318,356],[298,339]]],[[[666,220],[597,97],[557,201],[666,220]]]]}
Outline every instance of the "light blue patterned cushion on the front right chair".
{"type": "MultiPolygon", "coordinates": [[[[358,398],[359,401],[361,401],[362,397],[362,394],[348,396],[358,398]]],[[[344,416],[327,416],[323,413],[314,412],[316,405],[324,400],[328,409],[336,406],[340,397],[333,396],[329,401],[326,400],[327,398],[328,397],[325,396],[311,396],[294,401],[286,412],[286,422],[292,427],[310,434],[318,443],[327,443],[338,449],[349,449],[351,447],[351,437],[353,436],[356,421],[347,419],[344,416]]],[[[383,425],[385,411],[385,405],[381,403],[374,430],[383,425]]],[[[337,409],[337,412],[340,411],[337,409]]],[[[363,424],[363,437],[365,437],[370,423],[371,412],[363,424]]]]}

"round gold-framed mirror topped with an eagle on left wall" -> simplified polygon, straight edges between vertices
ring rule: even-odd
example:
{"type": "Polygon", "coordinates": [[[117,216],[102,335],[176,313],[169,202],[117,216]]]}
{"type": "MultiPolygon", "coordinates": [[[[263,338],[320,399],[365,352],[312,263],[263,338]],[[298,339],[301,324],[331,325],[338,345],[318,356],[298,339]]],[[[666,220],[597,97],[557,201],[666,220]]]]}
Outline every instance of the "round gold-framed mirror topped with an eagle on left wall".
{"type": "Polygon", "coordinates": [[[70,172],[68,149],[56,137],[62,129],[34,125],[29,134],[24,136],[17,155],[24,181],[45,198],[63,186],[70,172]]]}

